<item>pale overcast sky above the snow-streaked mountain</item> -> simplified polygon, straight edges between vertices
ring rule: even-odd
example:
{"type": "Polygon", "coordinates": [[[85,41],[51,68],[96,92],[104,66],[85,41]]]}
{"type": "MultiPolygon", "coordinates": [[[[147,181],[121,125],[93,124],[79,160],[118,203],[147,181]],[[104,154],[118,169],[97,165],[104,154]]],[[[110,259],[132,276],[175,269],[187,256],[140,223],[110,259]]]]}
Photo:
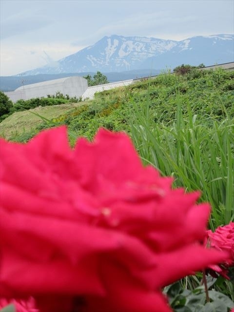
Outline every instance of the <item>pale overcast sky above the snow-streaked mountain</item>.
{"type": "Polygon", "coordinates": [[[59,60],[109,35],[233,34],[233,12],[233,0],[0,0],[0,76],[59,60]]]}

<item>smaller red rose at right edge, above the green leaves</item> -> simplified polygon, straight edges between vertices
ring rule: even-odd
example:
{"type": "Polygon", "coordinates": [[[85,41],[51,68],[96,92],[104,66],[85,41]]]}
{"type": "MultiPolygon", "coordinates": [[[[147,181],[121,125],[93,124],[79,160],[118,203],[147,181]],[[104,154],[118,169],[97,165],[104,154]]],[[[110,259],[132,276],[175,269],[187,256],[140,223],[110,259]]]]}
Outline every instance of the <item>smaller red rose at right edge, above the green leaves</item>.
{"type": "MultiPolygon", "coordinates": [[[[219,226],[215,232],[211,230],[207,231],[205,242],[208,247],[215,248],[219,251],[225,251],[229,254],[229,257],[223,263],[209,266],[213,271],[229,279],[227,275],[228,268],[234,266],[234,222],[230,222],[225,226],[219,226]]],[[[217,277],[214,272],[210,273],[217,277]]]]}

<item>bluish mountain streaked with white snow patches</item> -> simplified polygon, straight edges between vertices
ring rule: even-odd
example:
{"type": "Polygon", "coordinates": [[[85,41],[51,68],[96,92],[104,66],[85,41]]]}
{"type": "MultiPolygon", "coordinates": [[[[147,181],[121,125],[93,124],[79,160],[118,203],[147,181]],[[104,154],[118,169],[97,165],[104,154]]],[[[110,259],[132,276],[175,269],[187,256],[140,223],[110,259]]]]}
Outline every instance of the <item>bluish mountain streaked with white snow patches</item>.
{"type": "Polygon", "coordinates": [[[46,65],[21,74],[106,73],[145,68],[161,70],[182,63],[209,66],[233,60],[234,35],[195,36],[180,41],[113,35],[60,59],[53,67],[46,65]]]}

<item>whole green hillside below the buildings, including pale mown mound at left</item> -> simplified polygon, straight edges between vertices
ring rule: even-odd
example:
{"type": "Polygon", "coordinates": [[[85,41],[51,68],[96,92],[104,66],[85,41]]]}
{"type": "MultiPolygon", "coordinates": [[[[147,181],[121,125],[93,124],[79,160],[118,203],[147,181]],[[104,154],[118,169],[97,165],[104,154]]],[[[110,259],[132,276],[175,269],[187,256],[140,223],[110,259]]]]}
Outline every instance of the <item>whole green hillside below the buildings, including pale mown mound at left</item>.
{"type": "MultiPolygon", "coordinates": [[[[136,108],[148,110],[151,127],[158,123],[170,124],[176,116],[178,102],[185,117],[197,115],[197,119],[206,124],[212,123],[213,119],[222,120],[226,115],[233,117],[234,71],[217,69],[193,70],[187,75],[161,74],[151,80],[98,93],[94,100],[86,101],[84,105],[63,104],[32,111],[58,124],[67,124],[78,136],[91,139],[98,127],[131,134],[130,122],[136,108]]],[[[25,141],[46,127],[48,125],[39,117],[24,111],[3,120],[0,135],[25,141]]]]}

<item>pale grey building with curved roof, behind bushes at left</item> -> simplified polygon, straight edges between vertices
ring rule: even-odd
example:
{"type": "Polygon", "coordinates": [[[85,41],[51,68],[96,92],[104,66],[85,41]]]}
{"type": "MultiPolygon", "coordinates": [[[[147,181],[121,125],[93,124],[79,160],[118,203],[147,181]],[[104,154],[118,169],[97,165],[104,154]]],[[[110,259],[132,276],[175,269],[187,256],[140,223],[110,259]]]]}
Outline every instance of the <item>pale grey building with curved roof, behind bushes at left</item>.
{"type": "Polygon", "coordinates": [[[5,92],[5,94],[13,102],[18,99],[46,98],[47,95],[55,95],[58,91],[63,95],[69,95],[70,98],[75,96],[79,98],[87,88],[88,82],[85,78],[73,76],[23,85],[15,91],[5,92]]]}

